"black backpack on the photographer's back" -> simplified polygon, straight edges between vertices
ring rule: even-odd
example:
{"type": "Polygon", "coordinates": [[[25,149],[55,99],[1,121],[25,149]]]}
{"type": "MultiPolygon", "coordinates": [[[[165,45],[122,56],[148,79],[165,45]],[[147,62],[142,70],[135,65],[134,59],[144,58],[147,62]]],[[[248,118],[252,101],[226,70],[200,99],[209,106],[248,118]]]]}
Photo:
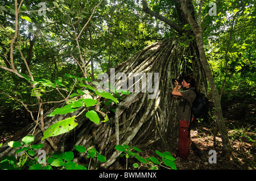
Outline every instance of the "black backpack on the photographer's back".
{"type": "Polygon", "coordinates": [[[196,92],[196,98],[192,104],[191,113],[193,113],[195,119],[203,119],[208,113],[209,100],[205,94],[201,94],[194,89],[191,90],[196,92]]]}

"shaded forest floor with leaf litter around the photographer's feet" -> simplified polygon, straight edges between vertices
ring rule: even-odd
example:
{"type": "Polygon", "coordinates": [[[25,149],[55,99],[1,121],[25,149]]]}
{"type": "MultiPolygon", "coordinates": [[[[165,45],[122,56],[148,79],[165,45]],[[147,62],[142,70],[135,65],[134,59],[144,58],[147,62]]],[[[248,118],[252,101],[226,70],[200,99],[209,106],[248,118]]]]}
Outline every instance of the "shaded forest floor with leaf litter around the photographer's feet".
{"type": "MultiPolygon", "coordinates": [[[[216,134],[214,141],[215,123],[196,123],[191,131],[191,149],[188,160],[176,158],[178,170],[255,170],[255,104],[248,102],[229,102],[222,108],[226,127],[228,128],[230,144],[233,148],[233,157],[230,160],[223,159],[220,133],[216,134]],[[217,163],[209,163],[210,150],[217,153],[217,163]]],[[[10,122],[9,122],[10,123],[10,122]]],[[[0,120],[0,143],[5,142],[14,134],[29,123],[22,113],[13,114],[13,121],[10,124],[1,123],[0,120]],[[15,118],[16,119],[15,119],[15,118]],[[17,121],[22,120],[22,121],[17,121]],[[24,121],[26,120],[26,121],[24,121]]],[[[177,142],[177,141],[176,141],[177,142]]],[[[157,157],[155,150],[170,151],[176,154],[177,146],[172,150],[163,150],[161,144],[151,146],[145,154],[157,157]]],[[[146,156],[145,155],[145,156],[146,156]]],[[[161,168],[159,168],[161,169],[161,168]]]]}

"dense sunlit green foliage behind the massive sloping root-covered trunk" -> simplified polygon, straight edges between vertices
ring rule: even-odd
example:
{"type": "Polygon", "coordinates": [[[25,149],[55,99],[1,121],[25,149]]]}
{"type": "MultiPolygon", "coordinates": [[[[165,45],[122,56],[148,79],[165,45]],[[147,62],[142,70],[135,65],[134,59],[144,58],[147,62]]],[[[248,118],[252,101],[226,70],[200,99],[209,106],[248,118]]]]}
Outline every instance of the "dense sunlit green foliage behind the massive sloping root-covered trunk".
{"type": "MultiPolygon", "coordinates": [[[[254,102],[255,1],[216,2],[217,14],[212,16],[208,14],[210,2],[203,3],[201,27],[218,91],[225,102],[246,98],[245,95],[254,102]]],[[[189,36],[187,41],[195,38],[192,35],[177,35],[166,23],[145,14],[139,0],[99,3],[96,0],[18,1],[20,10],[18,23],[15,24],[14,3],[0,0],[0,134],[5,133],[6,128],[13,129],[14,120],[26,124],[31,122],[31,115],[38,117],[38,96],[45,103],[44,111],[48,111],[56,103],[67,101],[67,98],[87,94],[84,91],[85,81],[97,80],[99,73],[109,71],[147,45],[171,37],[187,39],[186,36],[189,36]],[[17,37],[12,42],[14,36],[17,37]],[[86,67],[86,75],[81,67],[86,67]],[[21,77],[11,71],[13,68],[21,77]]],[[[177,22],[176,3],[151,0],[148,6],[177,22]]],[[[200,2],[193,3],[198,14],[200,2]]],[[[188,24],[183,24],[183,29],[189,28],[188,24]]],[[[97,82],[94,83],[97,85],[97,82]]],[[[93,87],[88,90],[94,91],[93,87]]],[[[115,98],[110,94],[101,96],[115,103],[118,103],[116,98],[122,99],[118,94],[115,98]]],[[[64,113],[86,103],[90,106],[97,103],[93,99],[72,101],[70,107],[64,107],[64,113]]],[[[53,111],[52,114],[60,111],[63,110],[53,111]]],[[[107,121],[107,113],[101,115],[107,121]]],[[[90,110],[86,116],[98,123],[95,111],[90,110]]]]}

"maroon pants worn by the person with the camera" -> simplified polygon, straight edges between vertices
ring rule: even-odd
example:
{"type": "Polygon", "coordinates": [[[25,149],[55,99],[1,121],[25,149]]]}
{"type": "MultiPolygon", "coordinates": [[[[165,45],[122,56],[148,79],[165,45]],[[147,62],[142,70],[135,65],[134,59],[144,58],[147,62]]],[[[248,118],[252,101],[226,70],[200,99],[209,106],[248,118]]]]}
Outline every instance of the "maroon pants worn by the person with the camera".
{"type": "Polygon", "coordinates": [[[184,160],[188,159],[188,152],[191,141],[190,132],[188,131],[189,123],[190,121],[188,122],[179,120],[179,157],[183,158],[184,160]]]}

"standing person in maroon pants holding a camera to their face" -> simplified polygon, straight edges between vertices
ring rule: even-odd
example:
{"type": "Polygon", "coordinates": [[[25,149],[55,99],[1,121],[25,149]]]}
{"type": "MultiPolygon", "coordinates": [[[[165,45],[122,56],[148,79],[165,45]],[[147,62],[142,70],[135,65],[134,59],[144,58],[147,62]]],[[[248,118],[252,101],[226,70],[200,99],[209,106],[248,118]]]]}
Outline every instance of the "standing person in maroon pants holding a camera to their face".
{"type": "Polygon", "coordinates": [[[179,157],[184,160],[188,159],[188,152],[190,146],[190,132],[189,124],[193,121],[193,115],[191,114],[191,106],[196,98],[196,92],[191,89],[196,89],[196,81],[188,75],[184,77],[181,85],[177,81],[174,83],[175,87],[172,90],[172,95],[179,99],[179,105],[177,109],[177,119],[179,120],[179,157]],[[183,87],[183,91],[180,91],[183,87]]]}

